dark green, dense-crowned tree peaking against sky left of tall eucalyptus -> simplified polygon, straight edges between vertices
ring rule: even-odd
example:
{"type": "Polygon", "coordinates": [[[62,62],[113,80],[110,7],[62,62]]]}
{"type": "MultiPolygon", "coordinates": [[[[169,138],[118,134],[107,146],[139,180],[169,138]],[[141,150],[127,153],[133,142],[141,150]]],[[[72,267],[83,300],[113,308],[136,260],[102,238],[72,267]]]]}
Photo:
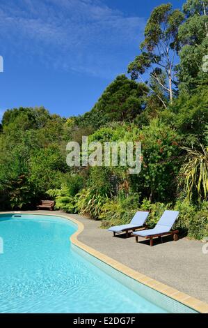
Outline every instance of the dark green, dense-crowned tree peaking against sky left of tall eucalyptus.
{"type": "Polygon", "coordinates": [[[111,121],[131,121],[145,106],[148,88],[120,75],[109,84],[93,110],[80,117],[79,126],[99,128],[111,121]]]}

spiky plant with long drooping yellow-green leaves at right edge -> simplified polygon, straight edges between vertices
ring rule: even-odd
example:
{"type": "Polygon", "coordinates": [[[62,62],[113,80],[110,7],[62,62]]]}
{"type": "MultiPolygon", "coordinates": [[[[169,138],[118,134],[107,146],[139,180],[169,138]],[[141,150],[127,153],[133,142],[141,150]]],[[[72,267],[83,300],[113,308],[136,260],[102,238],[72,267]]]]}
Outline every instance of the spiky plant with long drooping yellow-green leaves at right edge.
{"type": "Polygon", "coordinates": [[[189,200],[196,195],[199,200],[208,196],[208,147],[200,144],[202,150],[184,148],[186,163],[180,170],[180,185],[185,186],[189,200]]]}

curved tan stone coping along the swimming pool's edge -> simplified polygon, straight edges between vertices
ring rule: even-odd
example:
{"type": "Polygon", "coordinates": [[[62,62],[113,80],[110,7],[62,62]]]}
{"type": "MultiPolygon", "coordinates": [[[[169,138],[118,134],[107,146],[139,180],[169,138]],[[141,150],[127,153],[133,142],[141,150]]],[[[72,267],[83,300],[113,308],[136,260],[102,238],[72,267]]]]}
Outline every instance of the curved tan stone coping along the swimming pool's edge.
{"type": "Polygon", "coordinates": [[[70,214],[52,214],[52,213],[46,214],[46,213],[34,213],[30,211],[26,211],[26,212],[6,211],[6,212],[1,212],[0,214],[31,214],[31,215],[44,215],[44,216],[59,216],[59,217],[66,218],[67,220],[70,220],[73,223],[75,223],[78,228],[77,231],[74,232],[74,234],[72,234],[72,236],[70,237],[70,241],[72,241],[72,244],[81,248],[83,251],[86,251],[86,253],[93,255],[95,258],[104,262],[110,267],[113,267],[113,269],[120,271],[122,274],[125,274],[125,276],[129,276],[129,278],[138,281],[138,283],[142,283],[143,285],[146,285],[152,290],[160,292],[161,294],[170,297],[170,299],[173,299],[181,304],[184,304],[185,306],[188,306],[189,308],[192,308],[198,313],[208,313],[208,304],[205,303],[204,301],[200,301],[200,299],[191,297],[184,292],[179,292],[179,290],[176,290],[175,288],[172,288],[164,283],[160,283],[159,281],[152,279],[149,276],[146,276],[145,274],[141,274],[140,272],[127,267],[125,264],[122,264],[117,260],[110,258],[108,255],[104,255],[103,253],[96,251],[94,248],[87,246],[86,244],[83,244],[83,242],[79,241],[77,237],[84,230],[84,225],[83,223],[79,222],[76,218],[72,218],[70,214]]]}

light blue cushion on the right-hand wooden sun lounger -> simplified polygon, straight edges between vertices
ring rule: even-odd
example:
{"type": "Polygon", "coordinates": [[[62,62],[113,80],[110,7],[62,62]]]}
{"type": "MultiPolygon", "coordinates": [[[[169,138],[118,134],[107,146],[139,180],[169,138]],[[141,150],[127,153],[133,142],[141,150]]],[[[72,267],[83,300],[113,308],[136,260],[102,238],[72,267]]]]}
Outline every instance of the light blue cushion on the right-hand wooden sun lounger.
{"type": "Polygon", "coordinates": [[[164,211],[163,215],[159,219],[157,225],[155,225],[154,229],[143,230],[134,232],[134,235],[147,237],[152,236],[154,234],[163,234],[170,232],[173,227],[177,217],[179,215],[179,211],[164,211]]]}

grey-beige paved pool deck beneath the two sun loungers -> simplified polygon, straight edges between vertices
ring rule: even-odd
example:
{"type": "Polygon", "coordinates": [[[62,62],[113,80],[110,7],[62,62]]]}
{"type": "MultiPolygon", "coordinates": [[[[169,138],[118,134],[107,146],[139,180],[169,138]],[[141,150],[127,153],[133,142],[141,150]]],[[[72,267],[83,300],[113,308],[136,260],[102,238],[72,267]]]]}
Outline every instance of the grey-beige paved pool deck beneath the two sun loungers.
{"type": "MultiPolygon", "coordinates": [[[[139,271],[152,279],[208,303],[208,254],[202,253],[202,242],[186,238],[173,241],[173,237],[158,239],[150,247],[150,241],[125,234],[113,237],[113,233],[100,228],[100,221],[93,221],[62,211],[30,211],[34,214],[64,214],[84,225],[78,240],[96,251],[139,271]]],[[[26,211],[25,211],[26,213],[26,211]]]]}

